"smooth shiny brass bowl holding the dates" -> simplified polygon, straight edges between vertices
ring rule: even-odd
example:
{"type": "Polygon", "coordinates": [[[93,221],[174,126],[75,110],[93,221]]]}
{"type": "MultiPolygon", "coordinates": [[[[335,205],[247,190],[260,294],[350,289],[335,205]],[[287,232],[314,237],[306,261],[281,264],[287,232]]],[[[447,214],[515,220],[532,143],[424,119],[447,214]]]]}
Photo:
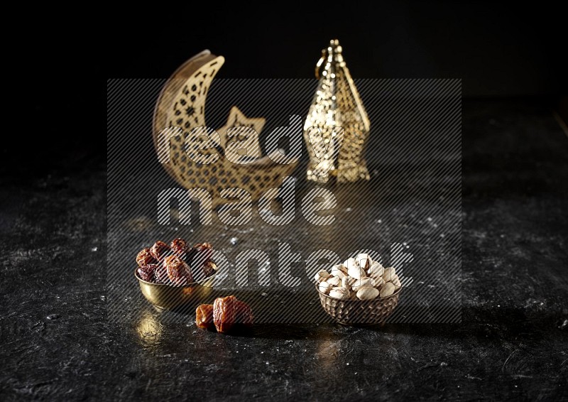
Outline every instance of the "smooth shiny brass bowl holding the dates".
{"type": "Polygon", "coordinates": [[[213,290],[213,281],[217,275],[217,264],[213,264],[213,274],[202,281],[193,282],[185,286],[172,286],[165,283],[146,282],[138,276],[134,270],[134,276],[138,279],[142,294],[158,310],[173,310],[181,305],[198,304],[208,300],[213,290]]]}

